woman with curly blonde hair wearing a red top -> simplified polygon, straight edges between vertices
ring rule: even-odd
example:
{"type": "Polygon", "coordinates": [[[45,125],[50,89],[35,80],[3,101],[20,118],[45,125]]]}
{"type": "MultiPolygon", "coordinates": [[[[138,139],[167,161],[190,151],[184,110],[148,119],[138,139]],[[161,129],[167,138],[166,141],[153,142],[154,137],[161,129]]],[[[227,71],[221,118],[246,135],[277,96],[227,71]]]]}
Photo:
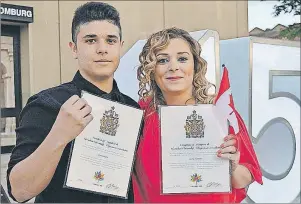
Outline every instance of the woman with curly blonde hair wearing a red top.
{"type": "Polygon", "coordinates": [[[261,183],[256,156],[237,145],[240,138],[228,135],[217,156],[232,161],[232,193],[161,195],[157,107],[214,103],[215,95],[209,94],[212,84],[205,78],[206,61],[200,53],[199,44],[188,32],[170,28],[153,34],[139,56],[139,104],[146,115],[133,174],[135,202],[240,202],[251,182],[261,183]]]}

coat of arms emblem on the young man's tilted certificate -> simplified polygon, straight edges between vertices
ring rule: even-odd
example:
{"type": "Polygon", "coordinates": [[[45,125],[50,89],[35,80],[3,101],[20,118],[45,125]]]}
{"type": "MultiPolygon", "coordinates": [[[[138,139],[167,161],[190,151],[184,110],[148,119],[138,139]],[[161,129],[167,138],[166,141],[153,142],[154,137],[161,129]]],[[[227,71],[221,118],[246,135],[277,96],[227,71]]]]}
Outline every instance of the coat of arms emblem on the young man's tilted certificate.
{"type": "Polygon", "coordinates": [[[110,110],[104,112],[103,117],[100,119],[99,132],[115,136],[118,127],[119,115],[115,112],[115,107],[112,106],[110,110]]]}

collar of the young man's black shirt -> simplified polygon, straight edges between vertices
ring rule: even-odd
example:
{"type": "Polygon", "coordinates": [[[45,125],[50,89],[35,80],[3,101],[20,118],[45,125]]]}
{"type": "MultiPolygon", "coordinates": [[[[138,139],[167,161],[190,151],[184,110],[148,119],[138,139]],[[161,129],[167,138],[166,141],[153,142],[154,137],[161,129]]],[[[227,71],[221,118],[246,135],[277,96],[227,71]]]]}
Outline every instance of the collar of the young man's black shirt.
{"type": "Polygon", "coordinates": [[[97,96],[101,96],[102,98],[111,99],[114,101],[120,101],[121,93],[118,89],[117,83],[115,79],[113,80],[113,89],[110,93],[107,93],[97,86],[86,80],[79,71],[76,72],[72,82],[75,84],[77,88],[80,90],[85,90],[91,94],[95,94],[97,96]]]}

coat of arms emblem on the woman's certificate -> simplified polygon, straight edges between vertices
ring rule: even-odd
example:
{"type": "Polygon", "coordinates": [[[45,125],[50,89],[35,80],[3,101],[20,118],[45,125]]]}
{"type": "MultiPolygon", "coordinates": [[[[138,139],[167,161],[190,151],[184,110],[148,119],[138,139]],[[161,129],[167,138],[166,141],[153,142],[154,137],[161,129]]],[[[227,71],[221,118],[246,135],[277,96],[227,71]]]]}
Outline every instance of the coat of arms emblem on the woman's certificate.
{"type": "Polygon", "coordinates": [[[204,137],[205,124],[202,116],[196,114],[193,110],[190,116],[187,116],[186,125],[186,138],[202,138],[204,137]]]}

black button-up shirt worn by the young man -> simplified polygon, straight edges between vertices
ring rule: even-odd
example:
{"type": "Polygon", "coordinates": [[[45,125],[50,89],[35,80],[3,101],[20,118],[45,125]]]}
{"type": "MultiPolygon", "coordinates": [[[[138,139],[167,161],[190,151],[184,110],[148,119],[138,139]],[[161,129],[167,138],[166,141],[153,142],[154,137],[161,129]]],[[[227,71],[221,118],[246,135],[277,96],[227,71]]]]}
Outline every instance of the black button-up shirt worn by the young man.
{"type": "MultiPolygon", "coordinates": [[[[76,73],[71,82],[46,89],[30,97],[26,106],[21,111],[19,127],[16,129],[16,146],[12,151],[11,158],[8,163],[7,187],[9,195],[14,200],[15,198],[12,196],[11,186],[8,179],[12,168],[38,148],[51,130],[62,104],[72,95],[76,94],[80,96],[81,90],[88,91],[112,101],[118,101],[123,104],[139,108],[136,101],[119,91],[115,80],[112,91],[110,93],[106,93],[84,79],[79,71],[76,73]]],[[[128,200],[63,188],[70,147],[71,143],[66,146],[49,185],[36,196],[35,202],[134,202],[132,184],[130,184],[128,200]]]]}

